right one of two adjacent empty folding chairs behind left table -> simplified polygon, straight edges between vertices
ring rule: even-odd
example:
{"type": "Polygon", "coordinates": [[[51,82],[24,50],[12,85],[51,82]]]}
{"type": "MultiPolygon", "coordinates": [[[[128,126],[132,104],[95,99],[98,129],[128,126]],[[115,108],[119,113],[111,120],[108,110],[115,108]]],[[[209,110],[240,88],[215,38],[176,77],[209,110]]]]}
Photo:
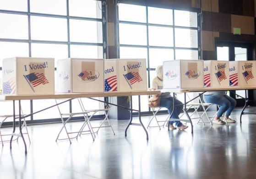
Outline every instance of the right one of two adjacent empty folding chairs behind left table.
{"type": "MultiPolygon", "coordinates": [[[[112,130],[112,132],[113,132],[113,135],[115,135],[114,130],[113,130],[113,127],[112,127],[112,125],[111,125],[110,122],[109,122],[109,110],[110,110],[110,108],[86,109],[86,108],[84,107],[83,103],[82,103],[82,99],[81,99],[81,98],[78,98],[78,102],[79,102],[79,105],[80,105],[80,107],[81,107],[81,109],[82,109],[83,112],[86,112],[86,113],[93,113],[93,114],[91,114],[91,116],[89,117],[89,119],[88,119],[89,121],[90,121],[90,119],[92,119],[92,117],[93,117],[94,114],[98,113],[99,111],[103,111],[103,112],[104,112],[105,118],[102,120],[102,122],[100,123],[100,125],[99,125],[99,126],[96,126],[96,127],[95,127],[95,126],[92,127],[92,129],[98,129],[98,130],[95,132],[97,135],[98,135],[99,129],[100,129],[100,128],[103,128],[103,127],[110,127],[111,130],[112,130]],[[104,124],[105,121],[108,122],[108,125],[104,125],[104,126],[103,126],[103,124],[104,124]]],[[[95,133],[93,133],[94,136],[95,136],[95,133]]],[[[82,134],[82,133],[81,133],[81,134],[82,134]]]]}

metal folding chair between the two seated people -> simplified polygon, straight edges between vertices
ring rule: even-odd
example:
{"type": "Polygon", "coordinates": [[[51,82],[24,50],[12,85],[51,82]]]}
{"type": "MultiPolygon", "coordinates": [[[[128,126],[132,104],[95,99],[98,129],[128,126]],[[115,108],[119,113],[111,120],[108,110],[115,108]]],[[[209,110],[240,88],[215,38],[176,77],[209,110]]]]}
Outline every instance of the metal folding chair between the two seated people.
{"type": "MultiPolygon", "coordinates": [[[[189,99],[189,101],[191,100],[190,96],[188,95],[188,93],[186,94],[187,95],[187,98],[189,99]]],[[[199,103],[195,103],[194,100],[191,101],[191,103],[188,103],[186,106],[188,107],[187,108],[187,111],[190,109],[190,108],[194,108],[194,111],[192,112],[192,114],[190,114],[190,117],[191,119],[198,119],[197,123],[196,124],[199,124],[199,123],[202,123],[203,125],[205,125],[206,122],[203,121],[203,116],[205,115],[206,116],[206,119],[208,120],[208,122],[212,125],[212,120],[209,118],[208,114],[207,114],[207,110],[213,105],[212,103],[204,103],[203,99],[202,99],[202,96],[200,96],[199,98],[199,103]],[[198,113],[198,110],[200,109],[200,107],[202,106],[202,109],[203,109],[203,113],[202,114],[199,114],[198,113]],[[194,114],[197,114],[197,117],[192,117],[194,114]]],[[[185,109],[183,109],[184,111],[185,109]]],[[[184,113],[183,113],[184,114],[184,113]]],[[[182,115],[183,115],[182,114],[182,115]]],[[[181,116],[182,116],[181,115],[181,116]]],[[[180,117],[181,117],[180,116],[180,117]]]]}

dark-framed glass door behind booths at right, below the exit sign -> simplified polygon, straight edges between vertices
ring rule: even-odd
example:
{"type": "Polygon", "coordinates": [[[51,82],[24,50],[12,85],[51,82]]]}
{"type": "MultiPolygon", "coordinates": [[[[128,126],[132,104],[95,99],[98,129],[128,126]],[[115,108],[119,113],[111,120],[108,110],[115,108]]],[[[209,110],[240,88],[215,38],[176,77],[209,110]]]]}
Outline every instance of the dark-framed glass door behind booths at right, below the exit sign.
{"type": "MultiPolygon", "coordinates": [[[[251,44],[250,43],[218,42],[217,43],[217,60],[227,60],[227,61],[252,60],[251,44]]],[[[236,99],[237,107],[245,105],[245,100],[243,99],[245,98],[245,90],[236,90],[236,91],[234,90],[232,92],[228,92],[228,95],[236,99]]],[[[247,90],[247,97],[253,98],[252,90],[247,90]]]]}

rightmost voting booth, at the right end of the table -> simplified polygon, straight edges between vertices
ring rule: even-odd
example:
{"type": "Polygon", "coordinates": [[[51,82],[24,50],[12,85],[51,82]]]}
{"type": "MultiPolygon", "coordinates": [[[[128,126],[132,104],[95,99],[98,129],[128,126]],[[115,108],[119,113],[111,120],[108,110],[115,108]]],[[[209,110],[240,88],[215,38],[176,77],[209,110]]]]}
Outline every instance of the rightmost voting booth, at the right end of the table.
{"type": "Polygon", "coordinates": [[[229,74],[230,86],[256,86],[256,61],[230,61],[229,74]]]}

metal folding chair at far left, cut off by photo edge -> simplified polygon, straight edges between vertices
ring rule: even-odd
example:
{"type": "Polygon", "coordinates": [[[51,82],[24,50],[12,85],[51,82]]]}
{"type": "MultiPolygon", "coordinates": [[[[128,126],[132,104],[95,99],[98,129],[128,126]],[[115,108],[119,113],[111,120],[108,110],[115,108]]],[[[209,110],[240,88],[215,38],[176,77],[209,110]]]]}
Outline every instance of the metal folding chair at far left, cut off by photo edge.
{"type": "MultiPolygon", "coordinates": [[[[6,102],[6,101],[1,101],[1,102],[6,102]]],[[[21,114],[22,117],[26,116],[26,114],[23,114],[22,108],[21,108],[21,112],[22,112],[22,114],[21,114]]],[[[19,117],[19,114],[16,114],[15,117],[19,117]]],[[[1,128],[1,126],[3,125],[3,123],[5,122],[6,119],[13,118],[13,114],[0,114],[0,118],[4,118],[0,122],[0,128],[1,128]]],[[[27,123],[26,123],[25,118],[23,118],[22,129],[23,129],[23,127],[25,127],[26,132],[24,132],[24,133],[22,132],[22,134],[27,134],[29,143],[31,143],[30,137],[29,137],[29,134],[28,134],[28,131],[27,131],[27,123]]],[[[9,142],[10,141],[10,140],[3,140],[3,136],[11,136],[11,135],[12,134],[1,134],[1,131],[0,131],[0,138],[1,138],[2,146],[4,146],[4,142],[9,142]]],[[[18,140],[19,134],[15,135],[15,136],[16,136],[16,138],[14,138],[12,141],[18,140]]]]}

